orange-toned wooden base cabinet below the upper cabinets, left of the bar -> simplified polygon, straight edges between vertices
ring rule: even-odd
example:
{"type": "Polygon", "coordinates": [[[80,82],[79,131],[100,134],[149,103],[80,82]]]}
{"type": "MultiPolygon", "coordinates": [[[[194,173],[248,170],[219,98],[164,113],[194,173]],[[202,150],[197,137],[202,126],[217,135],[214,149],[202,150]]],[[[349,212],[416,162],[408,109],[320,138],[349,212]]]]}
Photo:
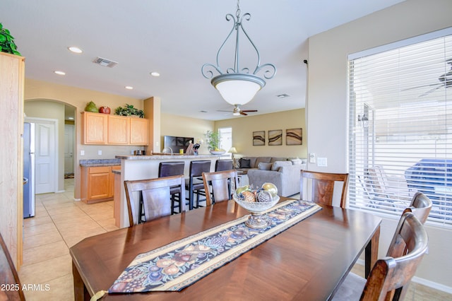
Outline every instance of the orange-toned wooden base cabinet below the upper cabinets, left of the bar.
{"type": "Polygon", "coordinates": [[[121,165],[81,168],[81,200],[85,203],[111,201],[114,196],[114,174],[112,170],[121,165]]]}

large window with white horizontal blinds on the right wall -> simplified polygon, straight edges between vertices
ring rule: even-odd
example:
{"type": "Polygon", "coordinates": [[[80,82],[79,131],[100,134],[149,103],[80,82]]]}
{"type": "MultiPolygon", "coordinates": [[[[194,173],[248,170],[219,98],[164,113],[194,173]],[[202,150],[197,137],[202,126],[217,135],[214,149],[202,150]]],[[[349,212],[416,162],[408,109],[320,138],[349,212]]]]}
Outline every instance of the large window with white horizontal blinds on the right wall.
{"type": "Polygon", "coordinates": [[[349,57],[350,207],[399,217],[415,191],[452,228],[452,30],[349,57]]]}

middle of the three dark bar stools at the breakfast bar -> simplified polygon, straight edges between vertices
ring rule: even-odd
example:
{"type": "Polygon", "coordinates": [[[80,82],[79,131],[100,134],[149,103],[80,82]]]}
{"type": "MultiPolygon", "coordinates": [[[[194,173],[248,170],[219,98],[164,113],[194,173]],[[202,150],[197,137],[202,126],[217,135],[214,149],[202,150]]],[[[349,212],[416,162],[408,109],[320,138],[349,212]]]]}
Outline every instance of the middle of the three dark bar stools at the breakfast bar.
{"type": "Polygon", "coordinates": [[[203,172],[210,172],[210,160],[196,160],[190,162],[189,179],[185,179],[185,189],[189,191],[189,210],[193,209],[194,194],[196,194],[196,208],[199,206],[199,196],[206,196],[204,190],[203,172]]]}

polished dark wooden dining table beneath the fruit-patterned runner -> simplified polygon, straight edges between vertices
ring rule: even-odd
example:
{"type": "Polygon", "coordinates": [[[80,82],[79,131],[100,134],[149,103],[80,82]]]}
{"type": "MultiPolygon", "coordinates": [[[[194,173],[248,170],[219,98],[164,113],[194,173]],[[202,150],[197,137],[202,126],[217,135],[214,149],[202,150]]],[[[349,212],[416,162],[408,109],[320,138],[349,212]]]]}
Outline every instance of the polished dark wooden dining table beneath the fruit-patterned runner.
{"type": "MultiPolygon", "coordinates": [[[[108,294],[102,300],[328,300],[363,252],[369,273],[381,218],[321,207],[179,292],[108,294]]],[[[246,214],[231,200],[85,238],[70,249],[75,300],[108,290],[138,254],[246,214]]]]}

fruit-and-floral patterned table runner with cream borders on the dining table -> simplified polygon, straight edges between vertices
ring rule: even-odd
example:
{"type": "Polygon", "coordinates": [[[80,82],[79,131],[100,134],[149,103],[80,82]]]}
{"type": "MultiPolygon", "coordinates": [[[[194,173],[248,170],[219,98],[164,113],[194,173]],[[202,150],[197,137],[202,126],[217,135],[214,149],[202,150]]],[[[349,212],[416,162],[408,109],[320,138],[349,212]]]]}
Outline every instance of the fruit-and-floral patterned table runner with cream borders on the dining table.
{"type": "Polygon", "coordinates": [[[284,201],[266,212],[267,228],[246,227],[246,215],[139,254],[108,293],[182,290],[319,210],[309,201],[284,201]]]}

